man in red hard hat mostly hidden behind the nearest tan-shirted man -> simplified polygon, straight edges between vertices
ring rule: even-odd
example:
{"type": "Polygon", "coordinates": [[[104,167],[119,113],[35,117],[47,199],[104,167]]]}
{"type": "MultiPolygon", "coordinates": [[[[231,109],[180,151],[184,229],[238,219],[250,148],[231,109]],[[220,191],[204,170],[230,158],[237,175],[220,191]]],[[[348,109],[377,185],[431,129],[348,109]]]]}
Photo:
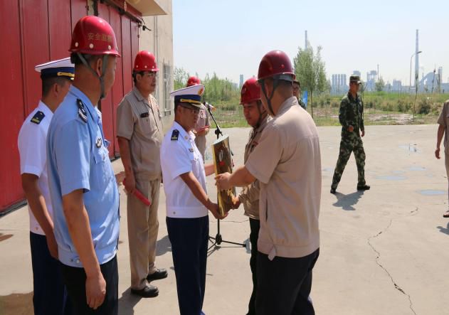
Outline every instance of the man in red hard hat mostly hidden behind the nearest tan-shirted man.
{"type": "MultiPolygon", "coordinates": [[[[268,119],[270,119],[260,100],[260,87],[255,78],[250,78],[243,84],[240,103],[243,106],[243,114],[245,115],[246,122],[253,127],[250,132],[250,139],[248,139],[248,143],[245,146],[244,162],[246,163],[251,152],[258,145],[263,129],[267,125],[268,119]]],[[[255,294],[257,289],[256,258],[258,255],[257,244],[260,230],[259,193],[260,186],[256,180],[254,183],[250,183],[250,185],[244,187],[241,193],[236,198],[233,198],[234,208],[238,208],[242,203],[245,209],[245,215],[250,217],[250,268],[253,274],[253,292],[248,303],[247,315],[255,314],[255,294]]]]}

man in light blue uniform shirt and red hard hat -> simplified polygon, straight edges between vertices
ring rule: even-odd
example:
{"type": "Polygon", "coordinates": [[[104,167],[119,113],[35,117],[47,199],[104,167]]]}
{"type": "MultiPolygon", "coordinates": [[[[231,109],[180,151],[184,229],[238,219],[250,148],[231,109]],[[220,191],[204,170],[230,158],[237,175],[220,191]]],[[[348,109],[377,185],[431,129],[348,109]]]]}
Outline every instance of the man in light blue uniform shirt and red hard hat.
{"type": "Polygon", "coordinates": [[[48,129],[48,183],[64,283],[75,314],[118,314],[119,193],[96,110],[120,57],[112,27],[85,16],[70,45],[75,80],[48,129]],[[93,34],[96,34],[95,36],[93,34]]]}

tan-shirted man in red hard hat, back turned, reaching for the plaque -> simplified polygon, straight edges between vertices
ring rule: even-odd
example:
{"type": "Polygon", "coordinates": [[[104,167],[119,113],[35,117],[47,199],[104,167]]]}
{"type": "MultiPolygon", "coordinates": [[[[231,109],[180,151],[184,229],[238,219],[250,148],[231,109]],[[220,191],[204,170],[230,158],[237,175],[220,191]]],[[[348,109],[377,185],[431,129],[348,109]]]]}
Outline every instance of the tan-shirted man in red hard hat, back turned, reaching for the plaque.
{"type": "Polygon", "coordinates": [[[315,314],[309,294],[319,255],[321,157],[317,127],[293,96],[294,78],[285,53],[263,57],[258,81],[273,119],[245,166],[216,176],[220,189],[260,182],[258,315],[315,314]]]}

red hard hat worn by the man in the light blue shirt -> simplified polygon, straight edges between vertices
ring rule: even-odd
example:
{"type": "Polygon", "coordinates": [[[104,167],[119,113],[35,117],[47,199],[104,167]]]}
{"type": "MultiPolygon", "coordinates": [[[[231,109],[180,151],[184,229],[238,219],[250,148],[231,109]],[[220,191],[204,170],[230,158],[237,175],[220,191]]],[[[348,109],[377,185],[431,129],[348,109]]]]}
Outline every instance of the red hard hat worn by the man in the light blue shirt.
{"type": "Polygon", "coordinates": [[[76,23],[69,51],[120,57],[114,30],[107,21],[98,16],[84,16],[76,23]]]}

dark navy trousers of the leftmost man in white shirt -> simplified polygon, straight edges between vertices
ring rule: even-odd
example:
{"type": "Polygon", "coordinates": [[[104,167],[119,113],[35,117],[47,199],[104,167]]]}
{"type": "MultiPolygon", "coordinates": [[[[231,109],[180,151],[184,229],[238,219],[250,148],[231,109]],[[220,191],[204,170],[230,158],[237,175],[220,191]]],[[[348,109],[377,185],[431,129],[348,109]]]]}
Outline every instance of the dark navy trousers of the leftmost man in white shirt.
{"type": "Polygon", "coordinates": [[[72,315],[59,262],[50,255],[45,235],[30,232],[33,306],[36,315],[72,315]]]}

